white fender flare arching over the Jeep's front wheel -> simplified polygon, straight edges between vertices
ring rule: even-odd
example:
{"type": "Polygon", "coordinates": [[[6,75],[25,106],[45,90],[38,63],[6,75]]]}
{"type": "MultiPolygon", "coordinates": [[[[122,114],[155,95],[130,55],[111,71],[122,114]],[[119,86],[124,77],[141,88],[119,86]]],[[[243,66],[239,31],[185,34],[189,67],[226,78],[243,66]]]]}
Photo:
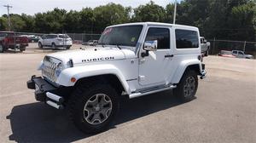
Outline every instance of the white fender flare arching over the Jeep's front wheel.
{"type": "Polygon", "coordinates": [[[74,86],[75,83],[72,83],[70,79],[75,77],[78,81],[80,78],[84,77],[93,77],[100,76],[106,74],[113,74],[119,78],[119,82],[123,85],[125,92],[127,94],[131,94],[131,90],[129,88],[128,83],[125,80],[124,75],[113,65],[91,65],[91,66],[75,66],[72,68],[67,68],[63,70],[58,77],[56,83],[59,85],[71,87],[74,86]]]}

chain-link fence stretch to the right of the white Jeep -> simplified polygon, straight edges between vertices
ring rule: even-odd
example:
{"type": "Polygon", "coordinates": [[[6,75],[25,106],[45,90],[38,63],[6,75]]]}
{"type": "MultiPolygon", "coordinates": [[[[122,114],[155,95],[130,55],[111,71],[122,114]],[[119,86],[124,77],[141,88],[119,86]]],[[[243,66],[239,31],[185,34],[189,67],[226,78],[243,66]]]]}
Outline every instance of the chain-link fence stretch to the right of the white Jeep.
{"type": "Polygon", "coordinates": [[[247,41],[231,41],[231,40],[218,40],[210,39],[208,42],[211,43],[211,49],[209,54],[216,55],[221,50],[241,50],[245,54],[252,54],[253,57],[256,57],[256,42],[247,42],[247,41]]]}

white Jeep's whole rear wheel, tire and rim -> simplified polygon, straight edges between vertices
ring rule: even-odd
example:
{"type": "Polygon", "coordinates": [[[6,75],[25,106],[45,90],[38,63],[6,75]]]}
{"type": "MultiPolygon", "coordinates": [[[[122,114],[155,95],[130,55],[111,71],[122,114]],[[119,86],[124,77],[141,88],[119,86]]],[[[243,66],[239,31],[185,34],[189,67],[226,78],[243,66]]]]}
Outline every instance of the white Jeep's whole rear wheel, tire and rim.
{"type": "Polygon", "coordinates": [[[195,98],[198,87],[198,77],[195,71],[186,71],[182,79],[173,90],[174,94],[182,101],[189,101],[195,98]]]}

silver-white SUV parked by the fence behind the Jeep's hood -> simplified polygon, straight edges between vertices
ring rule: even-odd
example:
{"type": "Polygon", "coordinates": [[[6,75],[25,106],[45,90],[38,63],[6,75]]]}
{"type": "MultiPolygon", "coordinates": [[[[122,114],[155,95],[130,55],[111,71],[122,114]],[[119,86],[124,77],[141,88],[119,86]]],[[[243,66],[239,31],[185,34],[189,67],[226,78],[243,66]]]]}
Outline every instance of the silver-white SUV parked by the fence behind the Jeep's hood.
{"type": "Polygon", "coordinates": [[[38,41],[38,47],[41,49],[44,47],[50,47],[51,49],[64,47],[70,49],[72,44],[72,39],[67,34],[46,34],[38,41]]]}

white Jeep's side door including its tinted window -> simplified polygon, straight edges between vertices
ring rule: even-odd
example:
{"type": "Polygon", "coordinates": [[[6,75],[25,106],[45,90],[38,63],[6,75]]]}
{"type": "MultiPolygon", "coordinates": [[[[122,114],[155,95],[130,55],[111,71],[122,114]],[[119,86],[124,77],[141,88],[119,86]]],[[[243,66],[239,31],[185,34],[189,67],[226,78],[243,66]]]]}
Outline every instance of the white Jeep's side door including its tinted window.
{"type": "MultiPolygon", "coordinates": [[[[153,86],[168,83],[172,75],[171,28],[167,26],[149,26],[145,41],[157,40],[156,51],[149,51],[149,55],[140,57],[139,84],[153,86]]],[[[141,56],[141,55],[140,55],[141,56]]]]}

